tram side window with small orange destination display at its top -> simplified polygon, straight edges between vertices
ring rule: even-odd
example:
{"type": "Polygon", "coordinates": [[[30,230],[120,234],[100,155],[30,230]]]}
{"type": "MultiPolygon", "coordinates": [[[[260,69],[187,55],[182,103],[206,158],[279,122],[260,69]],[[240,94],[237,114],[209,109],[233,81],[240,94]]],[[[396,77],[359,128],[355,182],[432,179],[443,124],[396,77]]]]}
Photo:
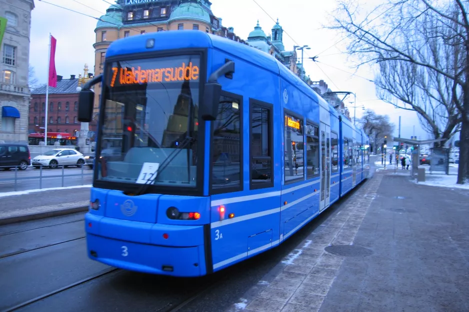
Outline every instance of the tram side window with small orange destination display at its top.
{"type": "Polygon", "coordinates": [[[285,183],[291,183],[303,178],[303,121],[290,114],[285,114],[284,128],[285,142],[285,183]]]}

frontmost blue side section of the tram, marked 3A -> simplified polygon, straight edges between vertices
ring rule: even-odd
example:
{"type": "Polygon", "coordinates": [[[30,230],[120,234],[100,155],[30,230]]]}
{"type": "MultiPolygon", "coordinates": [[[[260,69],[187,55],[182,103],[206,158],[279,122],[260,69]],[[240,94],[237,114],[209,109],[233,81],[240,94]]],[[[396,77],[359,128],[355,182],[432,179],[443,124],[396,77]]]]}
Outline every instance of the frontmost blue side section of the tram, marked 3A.
{"type": "MultiPolygon", "coordinates": [[[[216,121],[211,122],[211,169],[208,186],[211,195],[210,243],[213,271],[218,271],[279,243],[280,166],[277,160],[280,159],[281,150],[273,146],[279,146],[281,141],[279,129],[275,127],[275,121],[280,118],[279,81],[278,75],[274,72],[275,68],[278,72],[277,65],[273,62],[265,63],[265,57],[257,55],[257,51],[251,51],[250,55],[244,55],[239,51],[234,57],[223,52],[229,50],[229,46],[222,45],[223,42],[214,42],[214,44],[219,46],[212,52],[213,68],[225,63],[225,59],[232,59],[235,62],[236,71],[233,79],[221,77],[218,81],[222,85],[222,90],[229,92],[225,94],[231,96],[222,98],[222,101],[230,102],[233,97],[239,99],[239,103],[233,105],[239,109],[239,126],[242,129],[238,138],[242,143],[237,143],[237,146],[241,146],[238,155],[242,155],[238,160],[242,173],[238,178],[240,183],[235,188],[223,188],[219,185],[215,187],[215,181],[219,183],[226,178],[225,163],[229,163],[231,155],[235,154],[226,148],[225,150],[221,148],[220,153],[219,149],[223,147],[223,143],[233,141],[235,138],[232,134],[220,134],[220,131],[217,131],[218,136],[222,137],[218,137],[215,141],[213,131],[216,121]],[[262,66],[256,66],[244,59],[252,60],[253,63],[262,66]],[[262,111],[259,107],[266,108],[266,111],[262,111]],[[265,114],[269,114],[268,120],[264,118],[265,114]],[[253,123],[250,122],[257,117],[268,123],[267,133],[260,131],[260,129],[265,130],[261,125],[252,129],[253,123]],[[271,139],[262,139],[265,136],[271,139]],[[260,143],[269,145],[266,155],[256,154],[264,156],[263,158],[251,155],[251,152],[258,152],[258,146],[252,145],[253,141],[258,142],[257,145],[260,143]],[[259,184],[262,185],[259,187],[259,184]]],[[[234,106],[231,108],[235,109],[234,106]]]]}

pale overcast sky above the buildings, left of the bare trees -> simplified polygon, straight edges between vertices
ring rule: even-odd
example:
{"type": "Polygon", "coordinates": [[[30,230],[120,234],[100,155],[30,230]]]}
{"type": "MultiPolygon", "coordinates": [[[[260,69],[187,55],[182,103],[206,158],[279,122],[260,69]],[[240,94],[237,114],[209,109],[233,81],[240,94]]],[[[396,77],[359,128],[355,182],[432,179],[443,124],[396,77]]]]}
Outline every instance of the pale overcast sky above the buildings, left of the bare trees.
{"type": "MultiPolygon", "coordinates": [[[[114,2],[113,0],[46,1],[93,17],[103,15],[110,5],[108,2],[114,2]]],[[[374,73],[371,68],[360,68],[356,73],[357,75],[352,75],[354,72],[354,69],[351,68],[353,63],[347,60],[347,55],[343,53],[345,51],[345,40],[335,44],[341,39],[339,33],[323,28],[323,25],[330,23],[331,14],[335,9],[335,1],[256,0],[268,15],[253,0],[211,1],[212,11],[216,16],[222,18],[223,26],[234,27],[234,32],[243,39],[247,39],[257,19],[265,33],[269,34],[274,25],[274,20],[269,15],[275,20],[278,18],[284,29],[283,43],[285,49],[292,49],[295,41],[299,45],[307,44],[311,47],[310,50],[305,50],[304,58],[319,54],[317,59],[320,61],[319,63],[314,63],[311,60],[304,61],[306,73],[313,81],[323,79],[332,91],[351,91],[357,95],[357,106],[364,105],[365,108],[372,109],[378,114],[388,115],[391,122],[395,124],[395,136],[397,136],[400,115],[401,137],[410,137],[413,135],[413,128],[415,128],[415,135],[422,139],[428,138],[428,134],[420,127],[415,112],[395,109],[389,104],[376,100],[374,84],[357,76],[372,80],[374,73]]],[[[376,2],[376,0],[362,1],[362,8],[376,2]]],[[[85,63],[88,64],[89,72],[93,72],[94,28],[97,20],[39,0],[35,0],[34,4],[35,8],[31,13],[29,62],[34,66],[39,82],[45,83],[47,79],[49,32],[57,39],[55,52],[57,75],[69,78],[71,74],[76,76],[79,73],[83,74],[85,63]]],[[[298,54],[301,54],[300,51],[298,51],[298,54]]],[[[353,103],[350,104],[349,101],[353,101],[353,96],[345,100],[345,104],[353,106],[353,103]]],[[[353,108],[349,108],[349,110],[350,117],[353,120],[353,108]]],[[[359,118],[362,112],[360,107],[357,108],[356,117],[359,118]]]]}

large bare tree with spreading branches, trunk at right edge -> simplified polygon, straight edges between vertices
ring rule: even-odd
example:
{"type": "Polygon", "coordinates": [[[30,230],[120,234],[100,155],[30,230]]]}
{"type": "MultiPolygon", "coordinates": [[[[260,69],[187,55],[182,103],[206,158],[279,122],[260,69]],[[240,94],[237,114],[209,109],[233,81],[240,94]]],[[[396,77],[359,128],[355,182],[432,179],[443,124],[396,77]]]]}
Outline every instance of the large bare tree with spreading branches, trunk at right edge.
{"type": "Polygon", "coordinates": [[[346,34],[348,52],[358,56],[359,65],[378,64],[393,75],[387,79],[381,72],[377,79],[388,101],[414,109],[427,129],[441,137],[449,138],[460,121],[459,184],[469,183],[468,10],[467,0],[386,0],[361,17],[357,6],[341,0],[331,27],[346,34]],[[406,76],[397,77],[399,73],[406,76]],[[393,90],[389,86],[396,78],[400,86],[393,90]]]}

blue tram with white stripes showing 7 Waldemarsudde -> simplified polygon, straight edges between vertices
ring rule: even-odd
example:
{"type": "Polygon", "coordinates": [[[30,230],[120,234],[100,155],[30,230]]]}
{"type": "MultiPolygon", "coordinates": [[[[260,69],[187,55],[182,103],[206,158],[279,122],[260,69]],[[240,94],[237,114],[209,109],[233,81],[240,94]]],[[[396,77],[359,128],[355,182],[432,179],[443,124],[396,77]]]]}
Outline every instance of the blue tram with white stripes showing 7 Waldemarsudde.
{"type": "Polygon", "coordinates": [[[210,274],[279,245],[368,175],[366,135],[253,47],[196,30],[119,39],[80,92],[82,122],[99,82],[85,227],[101,263],[210,274]]]}

